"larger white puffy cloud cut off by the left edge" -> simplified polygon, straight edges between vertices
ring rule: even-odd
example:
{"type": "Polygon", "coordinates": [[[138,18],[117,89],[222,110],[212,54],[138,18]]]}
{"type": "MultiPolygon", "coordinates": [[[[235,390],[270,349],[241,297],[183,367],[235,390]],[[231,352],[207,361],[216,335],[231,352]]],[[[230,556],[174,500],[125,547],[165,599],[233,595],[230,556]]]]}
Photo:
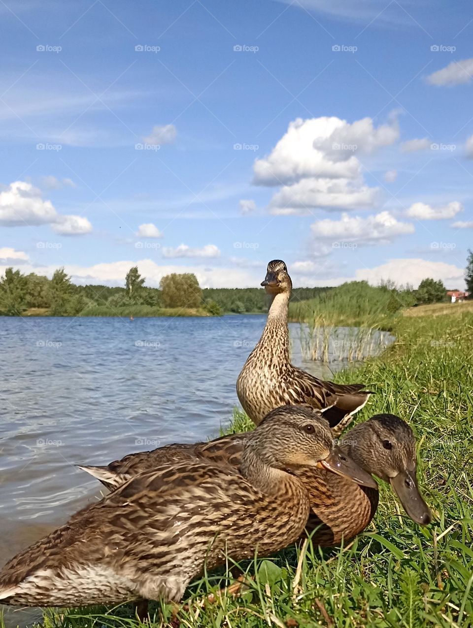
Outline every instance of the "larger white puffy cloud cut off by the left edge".
{"type": "Polygon", "coordinates": [[[89,233],[92,225],[82,216],[58,214],[50,200],[26,181],[14,181],[0,192],[0,224],[6,227],[50,224],[67,236],[89,233]]]}

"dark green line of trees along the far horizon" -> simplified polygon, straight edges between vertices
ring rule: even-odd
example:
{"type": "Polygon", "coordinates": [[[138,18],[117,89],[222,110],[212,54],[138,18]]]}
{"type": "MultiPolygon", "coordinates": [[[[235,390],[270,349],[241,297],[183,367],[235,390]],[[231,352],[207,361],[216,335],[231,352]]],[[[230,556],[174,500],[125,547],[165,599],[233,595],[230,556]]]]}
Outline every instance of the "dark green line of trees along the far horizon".
{"type": "MultiPolygon", "coordinates": [[[[473,251],[469,251],[465,281],[468,290],[473,291],[473,251]]],[[[398,290],[392,282],[386,282],[382,287],[392,293],[390,308],[447,301],[447,290],[442,281],[431,278],[423,279],[416,290],[409,286],[398,290]]],[[[323,293],[342,288],[294,288],[292,301],[313,300],[323,293]]],[[[365,290],[367,298],[374,297],[374,293],[369,293],[367,283],[365,290]]],[[[137,266],[126,274],[123,288],[73,284],[64,268],[58,268],[48,279],[35,273],[22,274],[19,269],[10,267],[0,279],[1,315],[19,316],[28,310],[38,310],[38,313],[49,316],[77,316],[86,314],[92,306],[109,308],[110,316],[118,308],[131,306],[143,306],[143,311],[146,308],[203,310],[219,316],[223,313],[263,313],[267,311],[267,296],[263,288],[201,288],[193,273],[167,275],[161,279],[159,288],[150,288],[145,286],[145,278],[137,266]]]]}

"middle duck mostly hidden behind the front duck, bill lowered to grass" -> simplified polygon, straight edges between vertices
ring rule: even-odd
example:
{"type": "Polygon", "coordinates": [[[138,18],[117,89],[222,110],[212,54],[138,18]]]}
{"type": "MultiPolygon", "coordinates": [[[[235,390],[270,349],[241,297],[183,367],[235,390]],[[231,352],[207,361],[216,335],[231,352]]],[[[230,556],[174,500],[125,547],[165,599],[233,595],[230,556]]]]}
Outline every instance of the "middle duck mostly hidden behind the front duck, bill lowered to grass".
{"type": "MultiPolygon", "coordinates": [[[[313,414],[324,415],[310,406],[313,414]]],[[[275,411],[264,419],[277,416],[275,411]]],[[[182,457],[224,468],[240,467],[244,443],[252,431],[221,436],[207,443],[180,445],[175,443],[151,452],[131,453],[105,467],[80,467],[114,490],[134,475],[147,472],[168,460],[182,457]]],[[[342,456],[354,460],[367,476],[352,480],[324,468],[298,467],[294,473],[309,493],[310,513],[306,529],[313,544],[329,547],[347,542],[361,533],[372,521],[379,502],[378,485],[371,475],[391,484],[408,516],[421,526],[431,522],[430,509],[423,499],[417,480],[416,439],[411,427],[395,414],[375,414],[359,423],[339,440],[342,456]]],[[[343,462],[343,460],[340,460],[343,462]]]]}

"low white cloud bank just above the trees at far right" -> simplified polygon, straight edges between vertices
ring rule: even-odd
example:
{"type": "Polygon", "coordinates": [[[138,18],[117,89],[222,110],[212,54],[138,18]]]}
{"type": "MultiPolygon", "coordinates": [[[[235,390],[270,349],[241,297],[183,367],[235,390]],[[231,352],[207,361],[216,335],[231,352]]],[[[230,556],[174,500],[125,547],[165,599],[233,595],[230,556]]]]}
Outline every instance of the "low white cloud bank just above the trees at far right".
{"type": "Polygon", "coordinates": [[[390,259],[376,268],[362,268],[355,273],[356,279],[366,279],[372,285],[392,279],[396,284],[413,284],[418,287],[422,279],[431,277],[442,279],[447,288],[464,286],[464,269],[444,262],[431,262],[426,259],[390,259]]]}

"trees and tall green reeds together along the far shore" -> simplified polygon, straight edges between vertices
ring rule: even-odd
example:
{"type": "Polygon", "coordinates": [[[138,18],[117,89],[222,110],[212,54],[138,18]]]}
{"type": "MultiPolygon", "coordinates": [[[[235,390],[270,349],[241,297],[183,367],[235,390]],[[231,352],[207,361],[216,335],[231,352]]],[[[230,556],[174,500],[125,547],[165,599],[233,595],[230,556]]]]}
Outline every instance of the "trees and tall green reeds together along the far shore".
{"type": "MultiPolygon", "coordinates": [[[[469,252],[465,280],[473,291],[473,252],[469,252]]],[[[455,290],[450,286],[449,290],[455,290]]],[[[442,281],[426,278],[416,290],[385,281],[370,286],[350,281],[335,288],[294,288],[289,317],[310,327],[350,326],[391,330],[402,312],[417,306],[452,304],[442,281]]],[[[267,312],[263,288],[201,288],[195,274],[164,276],[159,288],[145,285],[133,266],[123,287],[72,283],[64,268],[51,279],[7,268],[0,278],[0,315],[52,317],[175,317],[258,314],[267,312]]]]}

